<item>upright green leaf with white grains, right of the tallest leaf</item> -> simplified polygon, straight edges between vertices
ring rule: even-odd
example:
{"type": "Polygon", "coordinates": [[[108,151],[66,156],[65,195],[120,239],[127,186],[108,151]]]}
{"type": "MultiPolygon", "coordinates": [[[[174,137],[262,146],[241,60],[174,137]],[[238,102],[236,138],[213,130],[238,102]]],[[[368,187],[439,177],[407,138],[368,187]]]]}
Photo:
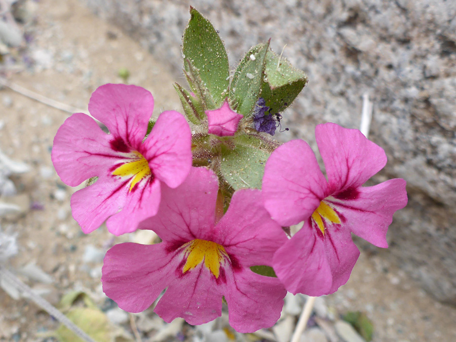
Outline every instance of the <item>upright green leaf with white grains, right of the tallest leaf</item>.
{"type": "Polygon", "coordinates": [[[230,87],[232,108],[245,117],[252,113],[258,100],[268,48],[269,42],[251,48],[233,75],[230,87]]]}

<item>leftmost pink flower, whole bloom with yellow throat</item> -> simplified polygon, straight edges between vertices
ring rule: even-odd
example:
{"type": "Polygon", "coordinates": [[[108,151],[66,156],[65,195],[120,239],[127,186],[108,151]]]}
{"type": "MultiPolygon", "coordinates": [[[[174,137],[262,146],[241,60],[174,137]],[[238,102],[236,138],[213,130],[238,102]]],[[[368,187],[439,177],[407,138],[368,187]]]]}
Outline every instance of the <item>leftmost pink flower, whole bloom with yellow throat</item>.
{"type": "Polygon", "coordinates": [[[89,116],[75,113],[57,131],[52,162],[65,184],[76,186],[97,176],[94,184],[71,196],[72,215],[84,233],[106,219],[115,235],[132,232],[157,213],[162,182],[180,185],[192,166],[191,133],[176,111],[161,113],[144,140],[154,107],[147,90],[106,84],[92,94],[89,116]],[[143,142],[144,140],[144,142],[143,142]]]}

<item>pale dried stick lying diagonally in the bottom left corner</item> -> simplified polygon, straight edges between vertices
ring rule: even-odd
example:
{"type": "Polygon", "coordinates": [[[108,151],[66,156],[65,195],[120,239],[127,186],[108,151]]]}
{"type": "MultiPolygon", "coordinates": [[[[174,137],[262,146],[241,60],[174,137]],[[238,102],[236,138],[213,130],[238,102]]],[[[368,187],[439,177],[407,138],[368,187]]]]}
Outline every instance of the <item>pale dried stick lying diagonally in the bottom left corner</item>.
{"type": "Polygon", "coordinates": [[[16,289],[24,293],[31,300],[33,300],[37,306],[42,308],[44,311],[46,311],[49,315],[54,317],[60,323],[64,324],[68,329],[70,329],[80,338],[82,338],[86,342],[95,342],[88,334],[81,330],[79,326],[75,325],[68,319],[68,317],[66,317],[59,310],[53,307],[49,301],[33,292],[33,290],[29,286],[24,284],[19,278],[17,278],[13,273],[5,269],[2,265],[0,265],[0,278],[6,279],[16,289]]]}

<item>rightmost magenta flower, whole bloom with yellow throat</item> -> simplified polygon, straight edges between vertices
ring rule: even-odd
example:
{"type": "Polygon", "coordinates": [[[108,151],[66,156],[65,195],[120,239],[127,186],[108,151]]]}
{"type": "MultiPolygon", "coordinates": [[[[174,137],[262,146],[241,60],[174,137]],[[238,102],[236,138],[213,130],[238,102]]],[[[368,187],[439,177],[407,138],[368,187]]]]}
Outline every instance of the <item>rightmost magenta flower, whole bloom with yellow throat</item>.
{"type": "Polygon", "coordinates": [[[351,232],[378,247],[393,213],[407,204],[405,180],[362,185],[387,162],[385,151],[360,131],[318,125],[315,136],[326,180],[309,145],[289,141],[269,158],[262,192],[266,209],[282,226],[303,221],[274,255],[274,270],[288,291],[319,296],[344,285],[359,256],[351,232]]]}

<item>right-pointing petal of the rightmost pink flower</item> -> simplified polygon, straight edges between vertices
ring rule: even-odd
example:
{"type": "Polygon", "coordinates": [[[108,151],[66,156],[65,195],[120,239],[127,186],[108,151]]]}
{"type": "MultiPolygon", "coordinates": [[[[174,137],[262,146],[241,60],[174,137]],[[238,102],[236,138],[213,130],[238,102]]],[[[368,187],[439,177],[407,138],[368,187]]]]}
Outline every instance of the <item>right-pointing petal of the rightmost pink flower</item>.
{"type": "Polygon", "coordinates": [[[393,214],[407,204],[405,180],[390,179],[352,192],[349,199],[328,200],[344,217],[345,229],[377,247],[388,247],[386,234],[393,214]]]}

